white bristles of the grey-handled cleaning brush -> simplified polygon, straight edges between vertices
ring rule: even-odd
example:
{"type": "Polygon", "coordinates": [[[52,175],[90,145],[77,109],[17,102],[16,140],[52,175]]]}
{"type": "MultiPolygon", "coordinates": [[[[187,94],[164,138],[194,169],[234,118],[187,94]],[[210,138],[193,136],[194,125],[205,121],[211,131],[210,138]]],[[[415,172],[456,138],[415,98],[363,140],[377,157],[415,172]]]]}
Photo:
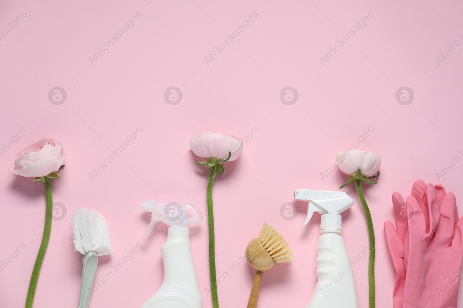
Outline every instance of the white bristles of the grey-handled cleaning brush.
{"type": "Polygon", "coordinates": [[[95,210],[88,213],[87,209],[75,210],[72,215],[72,229],[74,231],[74,247],[81,254],[89,251],[102,256],[113,253],[108,225],[105,218],[95,210]]]}

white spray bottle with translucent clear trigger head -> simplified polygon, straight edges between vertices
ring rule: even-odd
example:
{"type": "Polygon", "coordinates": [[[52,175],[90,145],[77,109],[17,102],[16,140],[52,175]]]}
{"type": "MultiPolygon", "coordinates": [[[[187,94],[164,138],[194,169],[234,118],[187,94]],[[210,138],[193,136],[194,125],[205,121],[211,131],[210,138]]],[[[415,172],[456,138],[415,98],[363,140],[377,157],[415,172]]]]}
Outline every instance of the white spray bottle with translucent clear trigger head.
{"type": "Polygon", "coordinates": [[[161,247],[164,262],[163,283],[140,308],[200,308],[202,299],[194,270],[188,226],[202,222],[201,211],[185,203],[146,201],[144,210],[152,212],[144,236],[157,221],[169,226],[167,240],[161,247]]]}

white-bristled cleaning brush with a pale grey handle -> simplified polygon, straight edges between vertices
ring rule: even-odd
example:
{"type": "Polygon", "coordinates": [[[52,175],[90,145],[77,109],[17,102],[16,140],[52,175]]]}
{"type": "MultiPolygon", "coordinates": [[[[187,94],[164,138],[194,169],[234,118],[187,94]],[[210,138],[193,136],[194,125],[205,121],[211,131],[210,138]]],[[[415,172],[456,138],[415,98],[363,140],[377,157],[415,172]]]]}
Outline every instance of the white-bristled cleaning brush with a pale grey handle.
{"type": "Polygon", "coordinates": [[[112,254],[113,247],[109,238],[105,218],[95,210],[88,214],[87,209],[75,210],[72,216],[74,247],[82,254],[82,280],[78,308],[88,308],[95,278],[98,256],[112,254]]]}

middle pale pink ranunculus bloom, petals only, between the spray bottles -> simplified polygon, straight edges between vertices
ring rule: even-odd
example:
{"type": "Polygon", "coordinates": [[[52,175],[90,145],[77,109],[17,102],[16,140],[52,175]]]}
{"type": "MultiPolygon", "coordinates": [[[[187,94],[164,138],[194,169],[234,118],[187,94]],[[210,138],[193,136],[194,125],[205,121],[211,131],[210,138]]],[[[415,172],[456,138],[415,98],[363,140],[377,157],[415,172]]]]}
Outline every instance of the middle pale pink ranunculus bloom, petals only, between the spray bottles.
{"type": "Polygon", "coordinates": [[[190,148],[199,157],[225,159],[232,153],[229,162],[238,158],[243,151],[243,141],[235,136],[219,133],[200,133],[190,140],[190,148]]]}

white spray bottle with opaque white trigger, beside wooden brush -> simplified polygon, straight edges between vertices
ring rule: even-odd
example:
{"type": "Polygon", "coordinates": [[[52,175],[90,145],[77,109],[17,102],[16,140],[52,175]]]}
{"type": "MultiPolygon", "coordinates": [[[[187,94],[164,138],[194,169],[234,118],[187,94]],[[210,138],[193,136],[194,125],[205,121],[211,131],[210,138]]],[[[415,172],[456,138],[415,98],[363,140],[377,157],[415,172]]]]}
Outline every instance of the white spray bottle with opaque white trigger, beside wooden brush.
{"type": "Polygon", "coordinates": [[[296,189],[294,199],[309,201],[304,226],[313,212],[322,214],[316,274],[318,282],[305,308],[357,308],[349,254],[341,234],[341,213],[354,204],[344,192],[296,189]]]}

